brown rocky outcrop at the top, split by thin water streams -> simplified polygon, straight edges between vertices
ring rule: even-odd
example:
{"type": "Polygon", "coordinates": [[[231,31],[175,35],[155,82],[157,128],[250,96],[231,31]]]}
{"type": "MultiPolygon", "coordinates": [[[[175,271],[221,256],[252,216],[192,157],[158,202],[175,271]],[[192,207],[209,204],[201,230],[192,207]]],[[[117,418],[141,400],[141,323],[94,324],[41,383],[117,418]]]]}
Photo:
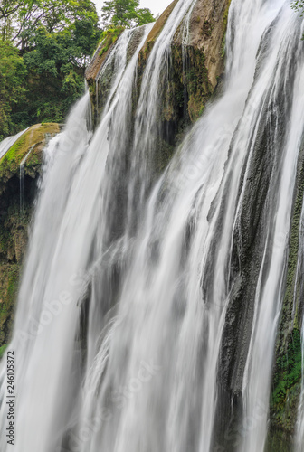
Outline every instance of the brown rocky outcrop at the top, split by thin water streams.
{"type": "MultiPolygon", "coordinates": [[[[148,56],[176,3],[177,0],[160,15],[139,52],[138,93],[148,56]]],[[[162,128],[170,130],[169,141],[171,143],[173,136],[179,136],[186,125],[194,122],[203,113],[206,102],[213,95],[218,80],[223,74],[223,43],[229,5],[230,0],[197,0],[191,14],[190,34],[185,45],[183,45],[184,23],[176,31],[172,43],[169,77],[162,87],[163,95],[159,96],[162,103],[159,119],[163,123],[162,128]]],[[[140,30],[139,28],[138,33],[140,30]]],[[[136,35],[137,33],[135,33],[136,35]]],[[[130,47],[132,48],[131,45],[130,47]]],[[[133,46],[133,52],[135,49],[136,46],[133,46]]],[[[104,99],[107,97],[111,82],[110,66],[109,71],[102,72],[105,63],[109,61],[111,50],[112,45],[109,46],[109,42],[101,42],[86,71],[96,122],[100,117],[100,111],[104,106],[104,99]],[[99,83],[96,88],[98,79],[99,83]],[[98,93],[96,89],[98,89],[98,93]]],[[[135,104],[136,102],[137,99],[135,99],[135,104]]],[[[168,141],[167,137],[163,138],[168,141]]]]}

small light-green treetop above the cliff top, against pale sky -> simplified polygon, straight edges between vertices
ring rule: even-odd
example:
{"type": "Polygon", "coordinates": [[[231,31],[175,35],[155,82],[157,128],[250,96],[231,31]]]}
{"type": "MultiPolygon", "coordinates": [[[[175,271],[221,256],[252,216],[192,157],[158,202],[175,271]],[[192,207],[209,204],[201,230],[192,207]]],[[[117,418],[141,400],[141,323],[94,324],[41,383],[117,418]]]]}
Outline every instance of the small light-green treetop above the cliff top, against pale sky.
{"type": "Polygon", "coordinates": [[[154,21],[148,8],[139,8],[139,0],[108,0],[101,10],[102,23],[109,26],[132,27],[154,21]]]}

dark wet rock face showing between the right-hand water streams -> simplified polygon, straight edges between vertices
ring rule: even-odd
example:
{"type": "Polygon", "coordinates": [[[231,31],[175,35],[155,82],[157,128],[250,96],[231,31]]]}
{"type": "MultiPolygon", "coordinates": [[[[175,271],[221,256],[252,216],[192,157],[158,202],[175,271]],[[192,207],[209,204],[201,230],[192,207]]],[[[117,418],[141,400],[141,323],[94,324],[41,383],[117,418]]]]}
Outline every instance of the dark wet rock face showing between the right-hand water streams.
{"type": "MultiPolygon", "coordinates": [[[[288,74],[290,91],[292,91],[294,77],[294,71],[290,68],[288,74]]],[[[267,278],[273,247],[285,250],[287,265],[283,276],[286,284],[286,286],[283,285],[285,296],[272,375],[267,452],[292,450],[297,418],[301,380],[299,318],[303,312],[303,287],[299,281],[297,285],[299,220],[303,202],[303,153],[299,155],[290,235],[281,237],[279,241],[272,236],[275,209],[278,203],[277,187],[279,187],[280,168],[282,168],[281,149],[284,148],[288,132],[285,124],[291,108],[291,96],[286,89],[282,85],[278,89],[277,99],[271,99],[272,102],[266,99],[264,106],[268,107],[261,108],[259,123],[252,124],[252,128],[254,127],[257,131],[257,137],[251,158],[246,159],[242,169],[239,193],[242,189],[244,191],[233,233],[233,263],[231,280],[228,282],[232,290],[223,328],[218,371],[219,392],[223,397],[218,404],[219,430],[215,432],[224,450],[232,452],[236,450],[233,446],[235,438],[233,433],[240,431],[242,427],[239,424],[242,416],[242,381],[252,335],[259,271],[263,261],[263,266],[266,268],[265,278],[267,278]],[[273,133],[274,129],[276,133],[273,133]],[[270,242],[267,237],[269,232],[270,242]],[[230,424],[227,423],[227,419],[231,419],[230,424]],[[231,442],[227,440],[230,436],[232,436],[231,442]]],[[[228,185],[229,182],[225,191],[228,191],[228,185]]],[[[226,204],[223,198],[222,221],[226,204]]],[[[219,229],[221,228],[223,224],[220,221],[219,229]]],[[[216,238],[214,252],[216,252],[216,238]]],[[[214,268],[210,268],[208,278],[213,278],[213,275],[214,268]]],[[[261,284],[263,284],[262,281],[261,284]]],[[[278,287],[278,302],[279,293],[278,287]]]]}

